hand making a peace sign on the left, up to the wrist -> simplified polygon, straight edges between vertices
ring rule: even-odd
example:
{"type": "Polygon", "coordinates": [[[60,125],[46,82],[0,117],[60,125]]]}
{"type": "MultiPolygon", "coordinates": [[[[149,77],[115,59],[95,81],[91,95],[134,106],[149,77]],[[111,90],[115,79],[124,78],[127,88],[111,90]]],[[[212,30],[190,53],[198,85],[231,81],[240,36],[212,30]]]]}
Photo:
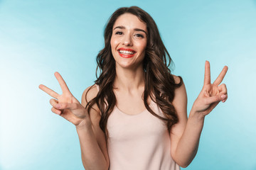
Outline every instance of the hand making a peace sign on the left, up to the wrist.
{"type": "Polygon", "coordinates": [[[67,84],[65,84],[65,81],[60,76],[60,74],[58,72],[55,72],[54,75],[58,80],[58,83],[60,84],[63,94],[57,94],[55,91],[49,89],[43,84],[39,85],[39,89],[45,91],[46,94],[49,94],[50,96],[55,98],[50,99],[50,104],[51,106],[53,106],[51,111],[53,113],[62,116],[63,118],[77,126],[82,122],[82,120],[85,120],[85,118],[87,117],[87,111],[73,96],[73,94],[71,94],[67,84]]]}

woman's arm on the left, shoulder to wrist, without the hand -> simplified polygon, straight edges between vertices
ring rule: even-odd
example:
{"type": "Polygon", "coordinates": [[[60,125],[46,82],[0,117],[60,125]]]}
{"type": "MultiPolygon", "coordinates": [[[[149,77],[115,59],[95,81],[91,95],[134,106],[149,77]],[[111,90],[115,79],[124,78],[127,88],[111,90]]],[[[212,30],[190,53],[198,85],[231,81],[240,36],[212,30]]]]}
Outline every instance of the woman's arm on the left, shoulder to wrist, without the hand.
{"type": "MultiPolygon", "coordinates": [[[[97,88],[93,86],[87,94],[87,100],[85,100],[85,94],[89,88],[87,88],[82,94],[82,106],[86,106],[97,95],[97,88]]],[[[82,164],[85,169],[108,169],[110,166],[110,160],[107,154],[107,143],[105,134],[100,129],[100,109],[95,104],[90,111],[91,123],[82,123],[76,126],[78,137],[80,140],[82,164]]]]}

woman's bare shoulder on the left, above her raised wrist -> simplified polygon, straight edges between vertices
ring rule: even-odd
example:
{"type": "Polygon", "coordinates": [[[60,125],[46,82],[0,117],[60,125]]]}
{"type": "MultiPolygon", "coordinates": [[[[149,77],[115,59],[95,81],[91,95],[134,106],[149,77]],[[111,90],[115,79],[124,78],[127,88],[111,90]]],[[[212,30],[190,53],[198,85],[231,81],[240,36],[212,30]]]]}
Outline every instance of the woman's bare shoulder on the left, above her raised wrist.
{"type": "Polygon", "coordinates": [[[93,98],[97,96],[97,93],[98,93],[98,89],[96,84],[93,84],[92,86],[87,87],[87,89],[85,89],[85,91],[83,91],[82,93],[82,100],[81,100],[82,106],[85,107],[89,101],[91,101],[93,98]]]}

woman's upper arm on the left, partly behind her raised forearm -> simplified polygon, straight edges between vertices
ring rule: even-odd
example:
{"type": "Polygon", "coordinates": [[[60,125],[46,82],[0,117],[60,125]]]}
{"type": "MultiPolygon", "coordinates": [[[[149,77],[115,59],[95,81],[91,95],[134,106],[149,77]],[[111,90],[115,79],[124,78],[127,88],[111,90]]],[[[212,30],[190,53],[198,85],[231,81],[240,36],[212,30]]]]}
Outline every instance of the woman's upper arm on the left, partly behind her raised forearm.
{"type": "MultiPolygon", "coordinates": [[[[85,107],[87,105],[87,102],[89,102],[90,100],[92,100],[92,98],[95,98],[95,96],[97,96],[97,93],[98,91],[95,85],[85,89],[85,91],[82,93],[82,100],[81,100],[82,106],[85,107]]],[[[92,109],[90,109],[90,120],[92,122],[92,130],[95,134],[97,144],[99,145],[102,153],[105,156],[106,161],[109,164],[110,160],[107,154],[107,142],[105,138],[105,133],[100,128],[100,118],[101,118],[100,109],[97,107],[97,104],[95,103],[92,106],[92,109]]]]}

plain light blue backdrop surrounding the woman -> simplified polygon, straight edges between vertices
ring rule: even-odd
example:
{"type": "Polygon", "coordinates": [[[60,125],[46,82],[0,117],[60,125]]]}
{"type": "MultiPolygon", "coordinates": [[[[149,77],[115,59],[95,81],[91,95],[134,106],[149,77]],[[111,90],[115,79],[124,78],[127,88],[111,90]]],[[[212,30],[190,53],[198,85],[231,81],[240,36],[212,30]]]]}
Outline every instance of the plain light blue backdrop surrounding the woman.
{"type": "Polygon", "coordinates": [[[183,77],[188,113],[224,65],[228,101],[206,117],[198,154],[186,169],[256,169],[256,1],[0,0],[0,169],[83,169],[75,126],[50,111],[45,84],[61,93],[55,71],[80,101],[95,80],[103,30],[121,6],[156,21],[183,77]]]}

